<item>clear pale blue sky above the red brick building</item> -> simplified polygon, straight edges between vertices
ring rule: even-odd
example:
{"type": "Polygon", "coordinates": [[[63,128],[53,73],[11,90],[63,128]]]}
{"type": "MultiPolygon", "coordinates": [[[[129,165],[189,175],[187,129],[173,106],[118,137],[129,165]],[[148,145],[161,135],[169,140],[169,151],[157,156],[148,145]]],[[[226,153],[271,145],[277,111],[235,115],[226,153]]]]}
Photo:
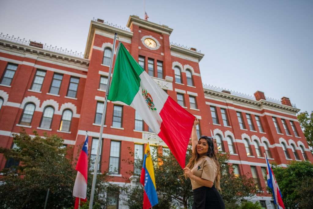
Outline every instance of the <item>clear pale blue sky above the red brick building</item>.
{"type": "MultiPolygon", "coordinates": [[[[90,21],[126,26],[143,0],[0,1],[0,33],[84,52],[90,21]]],[[[201,50],[204,84],[289,97],[313,110],[313,1],[146,0],[149,21],[173,29],[170,41],[201,50]]]]}

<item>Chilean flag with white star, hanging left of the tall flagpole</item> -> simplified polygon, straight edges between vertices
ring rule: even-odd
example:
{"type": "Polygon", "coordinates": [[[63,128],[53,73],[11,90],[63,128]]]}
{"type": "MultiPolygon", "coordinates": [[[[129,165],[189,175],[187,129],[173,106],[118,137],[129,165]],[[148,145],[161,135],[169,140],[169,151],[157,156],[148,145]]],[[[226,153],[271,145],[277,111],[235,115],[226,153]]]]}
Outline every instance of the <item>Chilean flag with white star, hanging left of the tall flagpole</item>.
{"type": "Polygon", "coordinates": [[[88,173],[88,136],[86,137],[80,156],[77,161],[77,175],[73,188],[73,196],[76,197],[75,209],[78,208],[79,198],[81,201],[87,201],[87,173],[88,173]]]}

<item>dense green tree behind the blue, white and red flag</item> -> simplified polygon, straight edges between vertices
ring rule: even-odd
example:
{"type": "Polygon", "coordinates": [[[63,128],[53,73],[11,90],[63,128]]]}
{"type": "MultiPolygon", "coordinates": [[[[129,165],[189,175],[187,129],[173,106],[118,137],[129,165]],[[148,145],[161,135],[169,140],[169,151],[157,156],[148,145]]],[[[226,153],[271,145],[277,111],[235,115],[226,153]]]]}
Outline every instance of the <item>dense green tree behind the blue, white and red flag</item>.
{"type": "Polygon", "coordinates": [[[313,165],[292,161],[287,168],[273,167],[285,208],[310,208],[313,201],[313,165]]]}

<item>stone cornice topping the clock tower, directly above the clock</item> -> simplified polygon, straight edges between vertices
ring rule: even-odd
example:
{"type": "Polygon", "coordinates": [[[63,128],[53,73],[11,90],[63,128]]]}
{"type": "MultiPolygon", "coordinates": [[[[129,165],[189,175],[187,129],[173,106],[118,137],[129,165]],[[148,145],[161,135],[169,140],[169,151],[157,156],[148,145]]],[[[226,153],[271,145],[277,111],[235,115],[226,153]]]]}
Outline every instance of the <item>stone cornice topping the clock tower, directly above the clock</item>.
{"type": "Polygon", "coordinates": [[[173,31],[173,29],[169,28],[167,25],[159,25],[156,23],[152,23],[149,21],[146,21],[144,19],[140,19],[136,15],[131,15],[129,16],[128,22],[127,22],[127,27],[131,28],[131,25],[139,25],[139,27],[154,31],[159,34],[168,34],[170,35],[173,31]]]}

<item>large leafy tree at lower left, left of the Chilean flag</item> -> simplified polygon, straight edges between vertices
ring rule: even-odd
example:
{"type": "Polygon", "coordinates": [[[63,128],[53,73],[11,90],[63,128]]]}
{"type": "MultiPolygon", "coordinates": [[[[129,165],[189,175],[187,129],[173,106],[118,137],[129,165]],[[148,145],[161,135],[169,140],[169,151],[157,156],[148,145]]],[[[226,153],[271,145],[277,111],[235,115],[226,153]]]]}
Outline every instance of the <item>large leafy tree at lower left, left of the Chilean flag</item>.
{"type": "Polygon", "coordinates": [[[75,172],[70,160],[65,158],[63,139],[34,134],[33,138],[25,130],[13,134],[17,148],[0,148],[7,159],[21,162],[13,169],[2,171],[1,208],[43,208],[48,188],[48,208],[69,207],[74,203],[75,172]]]}

